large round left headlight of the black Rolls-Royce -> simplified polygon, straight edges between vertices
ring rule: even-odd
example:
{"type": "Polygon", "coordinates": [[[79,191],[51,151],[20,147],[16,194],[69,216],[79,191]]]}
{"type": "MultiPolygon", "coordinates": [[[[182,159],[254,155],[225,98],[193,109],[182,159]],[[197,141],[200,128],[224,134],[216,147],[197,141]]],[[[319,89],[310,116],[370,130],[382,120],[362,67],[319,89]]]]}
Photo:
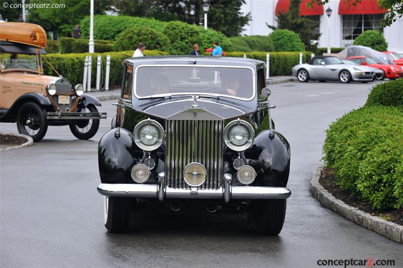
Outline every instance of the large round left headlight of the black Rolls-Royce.
{"type": "Polygon", "coordinates": [[[134,130],[135,143],[140,149],[153,151],[161,146],[164,129],[156,120],[146,119],[139,122],[134,130]]]}

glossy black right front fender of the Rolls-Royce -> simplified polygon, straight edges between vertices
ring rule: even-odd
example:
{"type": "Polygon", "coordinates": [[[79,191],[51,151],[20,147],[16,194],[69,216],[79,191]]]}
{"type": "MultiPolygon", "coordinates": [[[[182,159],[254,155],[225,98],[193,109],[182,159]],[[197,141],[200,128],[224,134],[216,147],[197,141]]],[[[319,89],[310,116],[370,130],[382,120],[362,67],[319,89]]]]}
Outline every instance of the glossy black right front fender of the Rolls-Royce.
{"type": "Polygon", "coordinates": [[[256,171],[256,183],[261,186],[287,186],[290,174],[290,144],[276,130],[264,130],[244,152],[246,163],[256,171]],[[269,138],[269,132],[274,134],[269,138]]]}

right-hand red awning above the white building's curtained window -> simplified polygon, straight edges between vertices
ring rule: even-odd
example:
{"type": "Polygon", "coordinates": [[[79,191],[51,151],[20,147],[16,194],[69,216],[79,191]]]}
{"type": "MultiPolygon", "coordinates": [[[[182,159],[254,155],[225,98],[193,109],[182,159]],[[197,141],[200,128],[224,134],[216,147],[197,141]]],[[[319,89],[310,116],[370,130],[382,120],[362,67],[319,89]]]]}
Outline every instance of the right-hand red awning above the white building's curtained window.
{"type": "Polygon", "coordinates": [[[350,0],[350,2],[347,0],[341,0],[339,3],[339,14],[382,14],[387,12],[387,9],[381,9],[378,6],[377,0],[362,0],[361,3],[357,3],[357,6],[353,6],[352,3],[352,0],[350,0]]]}

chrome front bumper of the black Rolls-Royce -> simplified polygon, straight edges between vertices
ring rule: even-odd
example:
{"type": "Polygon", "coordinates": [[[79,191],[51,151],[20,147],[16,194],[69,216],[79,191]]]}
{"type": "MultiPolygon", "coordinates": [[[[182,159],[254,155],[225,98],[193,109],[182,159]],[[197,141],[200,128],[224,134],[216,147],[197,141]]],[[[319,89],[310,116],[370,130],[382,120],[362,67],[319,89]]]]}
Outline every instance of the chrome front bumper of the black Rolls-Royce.
{"type": "Polygon", "coordinates": [[[201,198],[201,199],[286,199],[291,190],[287,187],[272,186],[231,186],[229,183],[218,189],[177,189],[160,184],[113,184],[101,183],[98,192],[107,196],[158,198],[201,198]]]}

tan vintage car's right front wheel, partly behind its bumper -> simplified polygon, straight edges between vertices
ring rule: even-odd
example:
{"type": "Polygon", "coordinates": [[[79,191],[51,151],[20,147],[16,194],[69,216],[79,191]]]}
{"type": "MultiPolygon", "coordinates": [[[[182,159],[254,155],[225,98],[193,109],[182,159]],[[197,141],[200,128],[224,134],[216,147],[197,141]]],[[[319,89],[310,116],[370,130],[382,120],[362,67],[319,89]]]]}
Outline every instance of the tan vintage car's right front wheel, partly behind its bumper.
{"type": "MultiPolygon", "coordinates": [[[[93,105],[88,105],[86,109],[82,109],[81,112],[98,112],[98,109],[93,105]]],[[[97,133],[99,128],[99,119],[89,120],[76,120],[70,124],[70,130],[73,135],[80,140],[89,140],[97,133]],[[88,125],[91,123],[91,126],[88,125]]]]}

